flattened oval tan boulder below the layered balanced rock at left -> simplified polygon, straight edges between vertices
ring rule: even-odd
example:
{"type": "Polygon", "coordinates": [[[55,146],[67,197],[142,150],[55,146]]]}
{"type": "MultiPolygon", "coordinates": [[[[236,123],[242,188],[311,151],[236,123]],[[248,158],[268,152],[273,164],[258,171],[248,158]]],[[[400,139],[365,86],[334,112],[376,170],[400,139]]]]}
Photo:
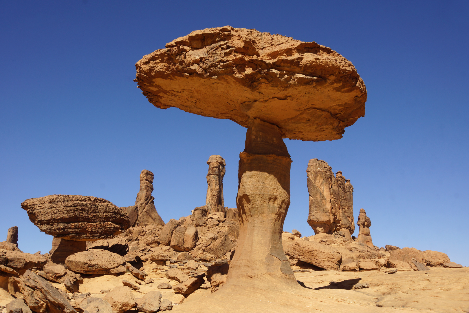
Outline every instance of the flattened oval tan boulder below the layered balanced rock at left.
{"type": "Polygon", "coordinates": [[[102,249],[90,249],[70,255],[65,264],[76,273],[81,274],[118,274],[126,271],[122,265],[124,257],[102,249]]]}

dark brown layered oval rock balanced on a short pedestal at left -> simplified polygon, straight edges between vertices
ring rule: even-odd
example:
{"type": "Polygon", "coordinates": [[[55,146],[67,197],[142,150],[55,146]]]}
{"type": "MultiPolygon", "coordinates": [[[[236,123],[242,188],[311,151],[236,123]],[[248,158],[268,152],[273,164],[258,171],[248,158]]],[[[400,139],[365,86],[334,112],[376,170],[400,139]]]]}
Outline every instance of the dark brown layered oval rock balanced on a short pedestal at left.
{"type": "Polygon", "coordinates": [[[41,231],[68,240],[110,238],[130,226],[129,216],[102,198],[52,195],[27,199],[21,207],[41,231]]]}

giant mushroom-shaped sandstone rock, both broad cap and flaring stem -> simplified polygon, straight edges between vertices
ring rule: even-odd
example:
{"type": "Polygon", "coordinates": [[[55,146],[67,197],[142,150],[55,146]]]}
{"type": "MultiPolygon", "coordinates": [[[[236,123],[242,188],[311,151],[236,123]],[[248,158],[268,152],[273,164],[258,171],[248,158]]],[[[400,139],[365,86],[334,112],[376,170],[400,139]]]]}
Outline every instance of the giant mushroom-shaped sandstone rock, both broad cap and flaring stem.
{"type": "Polygon", "coordinates": [[[268,300],[274,303],[285,292],[301,293],[282,249],[291,163],[282,138],[339,139],[364,116],[366,89],[355,67],[315,42],[226,26],[177,38],[144,56],[136,71],[154,106],[248,128],[239,161],[238,244],[211,312],[227,298],[231,307],[247,308],[246,299],[260,290],[275,294],[268,300]]]}

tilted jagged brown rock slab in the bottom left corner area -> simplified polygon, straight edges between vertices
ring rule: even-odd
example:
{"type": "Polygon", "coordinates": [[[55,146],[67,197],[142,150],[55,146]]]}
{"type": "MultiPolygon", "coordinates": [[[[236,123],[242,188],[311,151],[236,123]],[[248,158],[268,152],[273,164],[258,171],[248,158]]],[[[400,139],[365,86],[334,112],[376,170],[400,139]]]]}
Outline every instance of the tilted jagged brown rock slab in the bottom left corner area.
{"type": "Polygon", "coordinates": [[[27,270],[21,276],[21,293],[28,307],[34,312],[77,313],[67,299],[50,282],[27,270]]]}

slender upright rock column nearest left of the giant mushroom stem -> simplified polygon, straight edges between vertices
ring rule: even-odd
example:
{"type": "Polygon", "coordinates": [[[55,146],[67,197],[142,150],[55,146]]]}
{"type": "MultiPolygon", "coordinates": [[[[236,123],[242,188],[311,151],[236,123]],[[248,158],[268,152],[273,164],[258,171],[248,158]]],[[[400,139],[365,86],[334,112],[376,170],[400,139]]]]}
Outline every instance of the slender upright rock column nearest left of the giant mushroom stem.
{"type": "Polygon", "coordinates": [[[205,206],[207,213],[222,212],[225,214],[225,201],[223,200],[223,176],[225,176],[225,159],[219,155],[208,158],[207,198],[205,206]]]}

